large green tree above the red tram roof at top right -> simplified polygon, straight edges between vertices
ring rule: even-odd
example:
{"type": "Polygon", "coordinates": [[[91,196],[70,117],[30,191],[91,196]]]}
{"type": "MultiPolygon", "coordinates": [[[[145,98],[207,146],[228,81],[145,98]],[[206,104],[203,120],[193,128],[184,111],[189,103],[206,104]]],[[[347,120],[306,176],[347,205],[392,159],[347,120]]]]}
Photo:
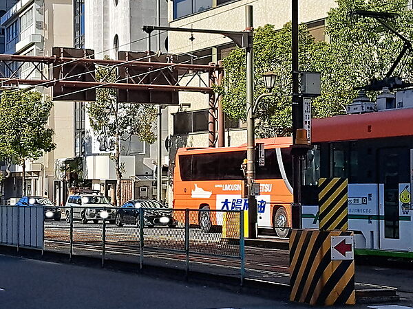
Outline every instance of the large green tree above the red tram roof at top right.
{"type": "MultiPolygon", "coordinates": [[[[373,78],[384,78],[403,47],[403,42],[375,19],[351,12],[397,13],[400,17],[388,23],[406,38],[413,38],[413,12],[406,10],[407,0],[337,0],[337,4],[328,13],[328,49],[317,59],[322,69],[322,94],[314,104],[317,117],[343,113],[357,95],[354,87],[362,87],[373,78]]],[[[407,56],[393,75],[412,82],[412,73],[413,58],[407,56]]],[[[369,95],[374,98],[375,93],[369,95]]]]}

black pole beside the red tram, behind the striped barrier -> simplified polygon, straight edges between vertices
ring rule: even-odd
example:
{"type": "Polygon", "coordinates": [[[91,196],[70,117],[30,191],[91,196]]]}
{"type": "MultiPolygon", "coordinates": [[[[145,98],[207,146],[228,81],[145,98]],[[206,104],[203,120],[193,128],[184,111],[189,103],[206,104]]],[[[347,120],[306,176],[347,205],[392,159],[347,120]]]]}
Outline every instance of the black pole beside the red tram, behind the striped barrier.
{"type": "MultiPolygon", "coordinates": [[[[297,129],[303,128],[303,102],[299,95],[299,56],[298,56],[298,0],[292,0],[292,73],[293,73],[293,147],[297,129]]],[[[293,151],[293,205],[291,205],[292,227],[301,228],[301,160],[300,155],[293,151]]]]}

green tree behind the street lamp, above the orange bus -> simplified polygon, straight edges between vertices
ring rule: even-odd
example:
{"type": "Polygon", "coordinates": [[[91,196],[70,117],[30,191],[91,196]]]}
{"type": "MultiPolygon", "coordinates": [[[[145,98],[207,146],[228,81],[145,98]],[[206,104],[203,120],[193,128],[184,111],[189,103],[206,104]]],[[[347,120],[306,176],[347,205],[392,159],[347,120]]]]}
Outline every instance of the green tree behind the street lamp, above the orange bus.
{"type": "MultiPolygon", "coordinates": [[[[299,69],[317,70],[315,58],[322,54],[327,44],[315,42],[305,25],[299,27],[299,69]]],[[[246,119],[246,73],[244,49],[233,50],[224,59],[225,77],[218,88],[225,113],[232,118],[246,119]]],[[[262,74],[273,71],[277,75],[274,96],[264,98],[257,108],[257,134],[261,137],[285,135],[291,126],[291,24],[281,30],[273,25],[258,27],[254,32],[254,97],[266,91],[262,74]]]]}

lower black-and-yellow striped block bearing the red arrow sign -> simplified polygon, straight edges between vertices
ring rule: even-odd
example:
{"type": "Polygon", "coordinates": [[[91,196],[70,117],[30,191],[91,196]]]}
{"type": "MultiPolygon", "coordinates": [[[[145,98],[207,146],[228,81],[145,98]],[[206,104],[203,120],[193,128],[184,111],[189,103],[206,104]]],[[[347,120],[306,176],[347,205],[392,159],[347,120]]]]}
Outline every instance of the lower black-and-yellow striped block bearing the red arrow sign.
{"type": "Polygon", "coordinates": [[[351,231],[292,231],[290,301],[313,306],[355,304],[354,260],[332,260],[333,250],[337,248],[346,258],[348,250],[353,250],[352,244],[341,242],[334,249],[331,247],[332,237],[352,235],[351,231]]]}

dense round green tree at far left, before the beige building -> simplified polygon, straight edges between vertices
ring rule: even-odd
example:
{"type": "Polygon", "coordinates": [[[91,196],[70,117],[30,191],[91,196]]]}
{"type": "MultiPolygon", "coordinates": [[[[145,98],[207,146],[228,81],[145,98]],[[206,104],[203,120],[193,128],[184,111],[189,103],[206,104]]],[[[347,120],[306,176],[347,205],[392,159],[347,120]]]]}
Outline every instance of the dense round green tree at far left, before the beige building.
{"type": "MultiPolygon", "coordinates": [[[[26,195],[25,160],[36,160],[56,147],[53,130],[47,128],[53,102],[38,91],[3,91],[0,101],[0,156],[23,170],[26,195]]],[[[8,170],[6,177],[10,176],[8,170]]]]}

